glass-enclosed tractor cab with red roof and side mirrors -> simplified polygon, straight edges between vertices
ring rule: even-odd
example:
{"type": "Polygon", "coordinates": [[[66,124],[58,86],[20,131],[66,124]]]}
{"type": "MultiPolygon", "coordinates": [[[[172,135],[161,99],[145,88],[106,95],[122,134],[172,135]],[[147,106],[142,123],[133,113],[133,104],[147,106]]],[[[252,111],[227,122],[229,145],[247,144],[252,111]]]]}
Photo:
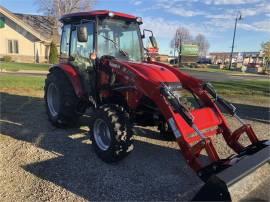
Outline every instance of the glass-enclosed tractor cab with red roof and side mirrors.
{"type": "MultiPolygon", "coordinates": [[[[102,56],[143,61],[142,39],[149,30],[144,30],[143,35],[141,34],[140,17],[111,11],[93,11],[65,15],[61,22],[62,61],[68,59],[78,62],[82,68],[91,65],[91,60],[102,56]]],[[[153,46],[156,46],[152,32],[150,39],[155,43],[153,46]]]]}

